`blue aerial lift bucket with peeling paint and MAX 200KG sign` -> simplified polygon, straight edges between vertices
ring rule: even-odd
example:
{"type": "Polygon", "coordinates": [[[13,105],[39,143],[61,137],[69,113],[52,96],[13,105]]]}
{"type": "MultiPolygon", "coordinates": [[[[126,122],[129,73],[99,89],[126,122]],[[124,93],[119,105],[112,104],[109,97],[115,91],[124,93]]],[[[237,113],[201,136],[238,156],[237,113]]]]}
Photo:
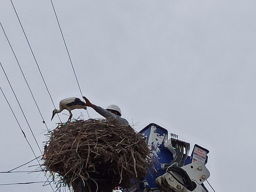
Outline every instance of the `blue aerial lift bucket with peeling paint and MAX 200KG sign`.
{"type": "MultiPolygon", "coordinates": [[[[164,164],[170,164],[173,160],[173,154],[170,150],[165,146],[166,141],[168,140],[168,131],[158,126],[157,124],[151,123],[141,131],[139,131],[143,136],[146,137],[146,143],[149,146],[149,149],[152,151],[154,158],[157,162],[154,162],[155,173],[154,170],[149,168],[150,173],[142,180],[140,185],[140,189],[143,190],[145,188],[157,189],[157,185],[155,183],[155,179],[159,176],[162,176],[166,170],[164,169],[164,164]]],[[[178,140],[178,138],[172,138],[172,143],[183,143],[186,145],[187,152],[189,152],[190,144],[178,140]]],[[[175,146],[173,146],[175,147],[175,146]]],[[[173,150],[175,151],[175,150],[173,150]]],[[[183,152],[182,152],[183,153],[183,152]]],[[[191,162],[195,162],[201,160],[204,164],[207,163],[209,151],[205,148],[202,148],[199,145],[195,145],[191,157],[188,155],[186,159],[184,159],[184,165],[190,164],[191,162]]]]}

